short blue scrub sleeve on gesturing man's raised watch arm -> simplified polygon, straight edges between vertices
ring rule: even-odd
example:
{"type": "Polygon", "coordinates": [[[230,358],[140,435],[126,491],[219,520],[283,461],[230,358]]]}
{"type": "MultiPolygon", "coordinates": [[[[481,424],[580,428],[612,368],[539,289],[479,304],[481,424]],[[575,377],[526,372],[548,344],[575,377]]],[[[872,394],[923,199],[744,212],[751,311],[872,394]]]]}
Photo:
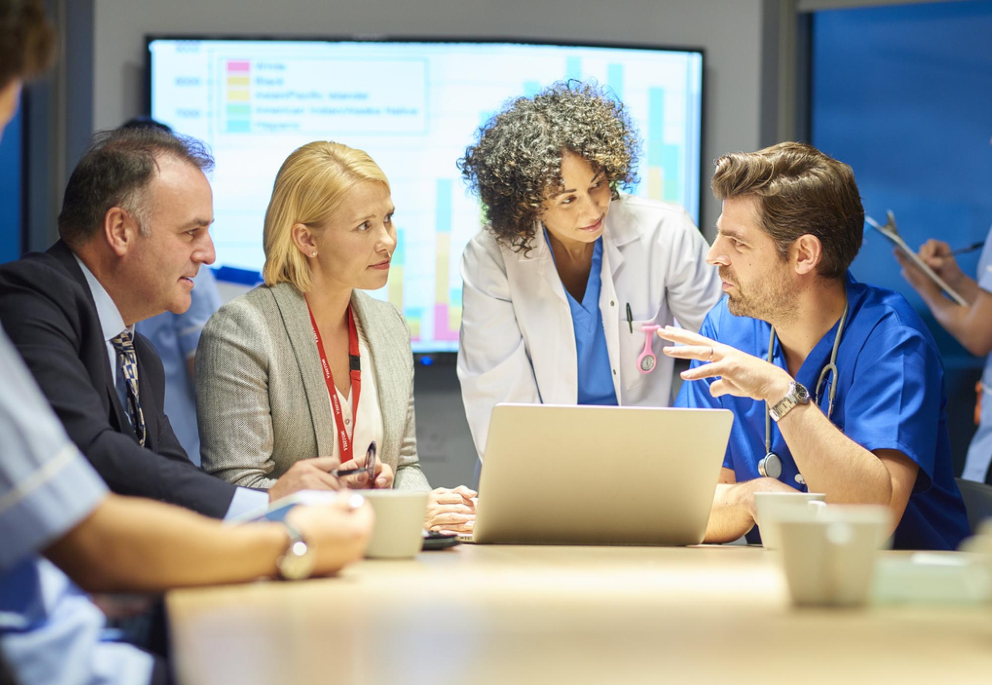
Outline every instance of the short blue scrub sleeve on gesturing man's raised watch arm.
{"type": "Polygon", "coordinates": [[[930,489],[943,413],[940,358],[909,327],[880,326],[858,354],[844,405],[844,435],[869,452],[898,450],[920,466],[915,492],[930,489]]]}

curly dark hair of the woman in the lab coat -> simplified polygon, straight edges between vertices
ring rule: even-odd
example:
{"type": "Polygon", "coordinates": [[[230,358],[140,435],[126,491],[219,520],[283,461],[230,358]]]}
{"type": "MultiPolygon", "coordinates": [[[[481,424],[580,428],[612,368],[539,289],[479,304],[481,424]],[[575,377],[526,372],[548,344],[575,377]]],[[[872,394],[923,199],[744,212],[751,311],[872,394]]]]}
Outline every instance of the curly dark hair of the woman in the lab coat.
{"type": "Polygon", "coordinates": [[[498,241],[518,252],[534,248],[545,198],[564,189],[564,151],[604,172],[614,200],[637,183],[637,130],[623,103],[594,82],[558,81],[510,101],[478,128],[458,169],[498,241]]]}

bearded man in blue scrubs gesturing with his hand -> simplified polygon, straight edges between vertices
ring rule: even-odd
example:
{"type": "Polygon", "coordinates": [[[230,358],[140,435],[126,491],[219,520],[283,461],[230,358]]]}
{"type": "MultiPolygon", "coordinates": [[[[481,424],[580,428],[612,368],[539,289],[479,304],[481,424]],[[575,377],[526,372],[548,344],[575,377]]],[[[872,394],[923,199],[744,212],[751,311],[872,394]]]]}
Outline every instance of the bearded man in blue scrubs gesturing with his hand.
{"type": "Polygon", "coordinates": [[[955,548],[968,523],[940,356],[901,295],[847,271],[864,225],[850,167],[781,143],[722,157],[712,186],[723,213],[706,259],[726,297],[699,335],[659,332],[692,359],[677,405],[734,412],[706,540],[757,542],[754,493],[799,490],[888,506],[896,548],[955,548]]]}

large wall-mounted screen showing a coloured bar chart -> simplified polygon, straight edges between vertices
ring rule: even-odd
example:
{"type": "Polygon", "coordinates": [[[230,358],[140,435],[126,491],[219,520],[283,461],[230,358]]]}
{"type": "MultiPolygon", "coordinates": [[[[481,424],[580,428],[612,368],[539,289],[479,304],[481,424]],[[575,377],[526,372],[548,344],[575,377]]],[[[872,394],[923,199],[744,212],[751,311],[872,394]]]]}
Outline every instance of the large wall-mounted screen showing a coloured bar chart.
{"type": "Polygon", "coordinates": [[[455,161],[508,99],[593,78],[643,139],[638,195],[698,220],[702,54],[497,42],[199,40],[151,37],[151,115],[210,146],[214,266],[260,271],[262,225],[283,160],[326,139],[367,151],[389,177],[397,249],[372,293],[401,309],[414,351],[457,348],[458,265],[480,228],[455,161]]]}

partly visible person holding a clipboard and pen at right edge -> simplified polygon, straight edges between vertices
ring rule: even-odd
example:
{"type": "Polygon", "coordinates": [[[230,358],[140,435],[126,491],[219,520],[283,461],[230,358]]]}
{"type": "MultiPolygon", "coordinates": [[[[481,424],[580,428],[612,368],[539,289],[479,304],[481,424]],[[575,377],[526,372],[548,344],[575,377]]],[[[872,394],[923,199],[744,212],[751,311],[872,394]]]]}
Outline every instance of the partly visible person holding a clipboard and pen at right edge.
{"type": "MultiPolygon", "coordinates": [[[[989,231],[992,238],[992,229],[989,231]]],[[[992,482],[989,464],[992,463],[992,243],[986,238],[981,258],[978,260],[976,278],[967,276],[954,259],[955,251],[942,240],[930,238],[920,248],[919,257],[930,269],[947,283],[964,300],[959,304],[943,296],[940,287],[925,275],[914,261],[894,250],[903,267],[903,277],[920,293],[933,318],[947,333],[976,356],[985,356],[982,372],[980,420],[978,431],[971,440],[961,478],[992,482]]],[[[959,251],[958,251],[959,252],[959,251]]]]}

